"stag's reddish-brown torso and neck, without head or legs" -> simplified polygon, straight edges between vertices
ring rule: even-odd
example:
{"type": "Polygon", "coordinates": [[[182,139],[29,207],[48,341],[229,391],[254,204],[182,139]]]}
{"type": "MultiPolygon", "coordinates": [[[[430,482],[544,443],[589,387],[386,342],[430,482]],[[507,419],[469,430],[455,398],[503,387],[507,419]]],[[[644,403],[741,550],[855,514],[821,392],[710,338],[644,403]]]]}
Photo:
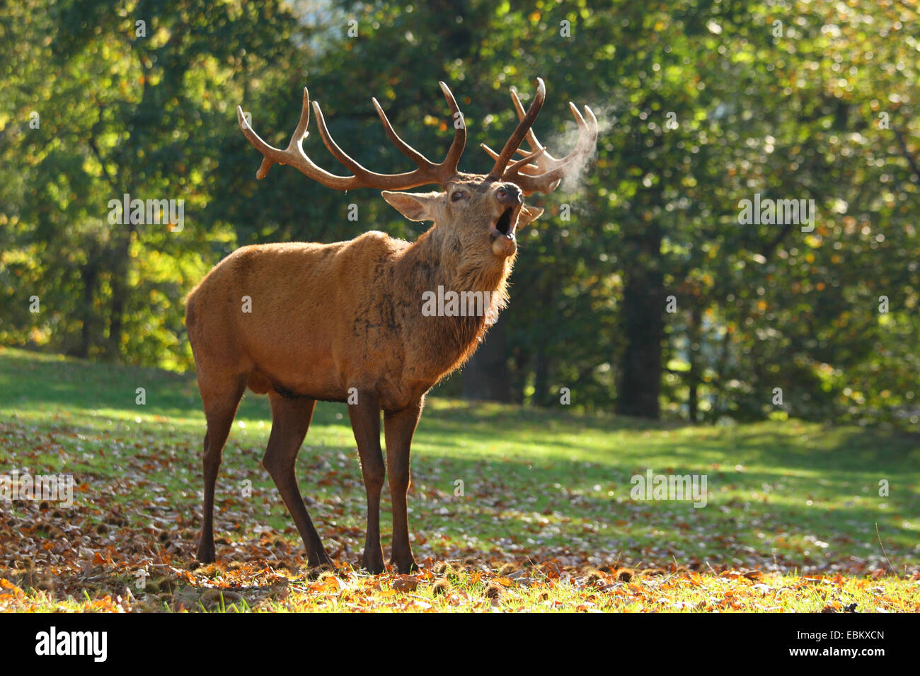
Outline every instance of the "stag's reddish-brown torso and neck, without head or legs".
{"type": "Polygon", "coordinates": [[[492,257],[470,274],[443,260],[434,230],[415,244],[370,232],[237,249],[187,301],[196,360],[245,375],[258,394],[345,402],[354,388],[373,392],[384,410],[408,407],[466,360],[487,327],[485,316],[420,321],[423,293],[440,285],[503,299],[512,269],[512,258],[492,257]]]}

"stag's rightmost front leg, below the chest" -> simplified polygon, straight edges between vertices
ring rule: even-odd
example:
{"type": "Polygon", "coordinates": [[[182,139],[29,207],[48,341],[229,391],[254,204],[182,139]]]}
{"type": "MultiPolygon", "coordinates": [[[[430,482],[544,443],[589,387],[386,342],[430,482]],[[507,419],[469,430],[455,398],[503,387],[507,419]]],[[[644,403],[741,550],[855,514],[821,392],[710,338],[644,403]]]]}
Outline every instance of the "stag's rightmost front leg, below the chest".
{"type": "Polygon", "coordinates": [[[387,412],[384,416],[386,471],[393,498],[393,555],[390,562],[400,573],[409,573],[419,568],[408,542],[406,495],[409,485],[409,446],[416,425],[419,424],[421,407],[422,402],[419,400],[404,410],[387,412]]]}

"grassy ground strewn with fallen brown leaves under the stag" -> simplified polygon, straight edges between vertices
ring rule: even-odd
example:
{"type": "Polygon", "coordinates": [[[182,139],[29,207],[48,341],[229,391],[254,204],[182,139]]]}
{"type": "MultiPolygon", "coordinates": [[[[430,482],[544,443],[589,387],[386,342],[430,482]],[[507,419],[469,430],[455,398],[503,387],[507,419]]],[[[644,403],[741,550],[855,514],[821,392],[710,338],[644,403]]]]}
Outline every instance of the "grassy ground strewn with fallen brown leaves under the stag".
{"type": "MultiPolygon", "coordinates": [[[[425,569],[373,577],[355,569],[347,410],[321,403],[298,477],[339,568],[317,577],[259,466],[270,418],[254,395],[224,450],[218,564],[194,565],[203,422],[193,377],[0,349],[0,475],[76,483],[69,509],[0,501],[0,610],[920,610],[915,436],[432,397],[409,503],[425,569]],[[631,498],[647,469],[706,475],[706,506],[631,498]]],[[[386,495],[382,508],[386,553],[386,495]]]]}

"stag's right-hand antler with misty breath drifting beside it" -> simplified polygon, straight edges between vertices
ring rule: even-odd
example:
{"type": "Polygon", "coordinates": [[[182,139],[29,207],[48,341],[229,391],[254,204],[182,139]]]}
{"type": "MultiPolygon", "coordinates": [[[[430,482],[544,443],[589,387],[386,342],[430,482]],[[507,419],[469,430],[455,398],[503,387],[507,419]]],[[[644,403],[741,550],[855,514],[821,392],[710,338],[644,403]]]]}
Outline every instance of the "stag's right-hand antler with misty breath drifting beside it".
{"type": "Polygon", "coordinates": [[[537,141],[534,130],[531,129],[546,97],[546,86],[543,80],[538,77],[536,82],[536,96],[526,113],[524,113],[521,99],[518,98],[517,92],[512,89],[512,102],[514,103],[514,109],[517,111],[518,119],[521,121],[518,123],[517,129],[512,133],[508,143],[505,143],[501,153],[496,153],[488,145],[482,143],[483,149],[495,159],[495,166],[489,172],[489,176],[496,180],[501,179],[517,184],[525,195],[535,192],[548,193],[555,190],[559,185],[559,181],[565,178],[566,174],[582,166],[585,160],[592,155],[597,144],[597,118],[594,117],[592,109],[585,106],[585,115],[581,117],[581,113],[575,107],[575,104],[569,103],[569,108],[575,116],[575,121],[579,127],[578,143],[569,155],[562,158],[553,157],[546,151],[546,148],[537,141]],[[585,121],[585,118],[587,118],[587,121],[585,121]],[[530,145],[530,153],[525,153],[518,147],[524,138],[527,139],[527,143],[530,145]],[[524,155],[523,159],[505,168],[515,152],[524,155]],[[531,164],[532,161],[534,164],[531,164]]]}

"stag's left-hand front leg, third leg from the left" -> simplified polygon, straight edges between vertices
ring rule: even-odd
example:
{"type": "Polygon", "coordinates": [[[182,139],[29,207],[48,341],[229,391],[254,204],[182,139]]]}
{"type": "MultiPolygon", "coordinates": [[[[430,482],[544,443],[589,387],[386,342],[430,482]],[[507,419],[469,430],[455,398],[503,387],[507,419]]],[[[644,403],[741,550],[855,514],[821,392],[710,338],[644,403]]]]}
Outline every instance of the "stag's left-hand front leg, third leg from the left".
{"type": "Polygon", "coordinates": [[[384,572],[384,553],[380,548],[380,491],[384,487],[385,475],[384,455],[380,450],[380,405],[376,395],[359,392],[358,403],[350,404],[348,413],[367,491],[364,567],[376,575],[384,572]]]}

